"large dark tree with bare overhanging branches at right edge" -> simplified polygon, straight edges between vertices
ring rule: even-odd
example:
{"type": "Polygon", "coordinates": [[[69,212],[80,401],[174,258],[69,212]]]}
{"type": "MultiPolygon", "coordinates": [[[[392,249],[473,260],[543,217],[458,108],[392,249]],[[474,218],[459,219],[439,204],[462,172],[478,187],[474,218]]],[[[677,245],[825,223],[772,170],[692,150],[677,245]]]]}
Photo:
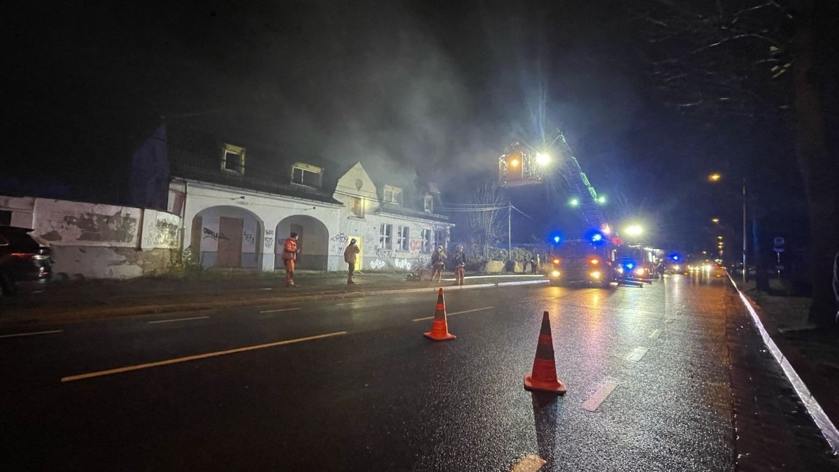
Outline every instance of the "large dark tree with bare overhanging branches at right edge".
{"type": "Polygon", "coordinates": [[[637,0],[650,75],[683,111],[743,119],[787,113],[809,207],[810,321],[833,323],[839,250],[839,158],[827,144],[826,87],[836,80],[836,3],[820,0],[637,0]],[[831,71],[831,67],[834,70],[831,71]],[[832,76],[831,76],[832,75],[832,76]]]}

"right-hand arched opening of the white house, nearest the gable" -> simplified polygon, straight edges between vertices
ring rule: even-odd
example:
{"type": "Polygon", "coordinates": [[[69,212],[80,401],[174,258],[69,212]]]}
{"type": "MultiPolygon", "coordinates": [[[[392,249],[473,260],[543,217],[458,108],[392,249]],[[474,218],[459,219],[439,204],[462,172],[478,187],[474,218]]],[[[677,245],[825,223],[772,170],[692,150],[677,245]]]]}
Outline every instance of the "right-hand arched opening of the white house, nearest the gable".
{"type": "Polygon", "coordinates": [[[296,267],[302,270],[327,270],[329,266],[329,230],[319,219],[308,215],[294,215],[277,224],[277,244],[274,244],[274,267],[283,268],[283,241],[290,233],[297,233],[296,267]]]}

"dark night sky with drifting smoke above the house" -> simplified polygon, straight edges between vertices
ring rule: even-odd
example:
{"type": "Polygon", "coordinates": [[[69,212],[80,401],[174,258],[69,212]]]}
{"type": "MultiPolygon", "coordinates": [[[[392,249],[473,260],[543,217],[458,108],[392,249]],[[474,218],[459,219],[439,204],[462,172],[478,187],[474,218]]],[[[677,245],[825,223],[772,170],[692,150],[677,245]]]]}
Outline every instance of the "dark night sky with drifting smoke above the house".
{"type": "MultiPolygon", "coordinates": [[[[166,117],[415,173],[466,202],[507,144],[561,128],[613,221],[644,221],[655,244],[710,247],[712,217],[739,230],[712,170],[748,170],[765,207],[801,212],[784,117],[669,107],[636,3],[16,5],[0,186],[122,202],[132,149],[166,117]]],[[[578,219],[546,186],[512,196],[534,217],[517,218],[520,242],[578,219]]]]}

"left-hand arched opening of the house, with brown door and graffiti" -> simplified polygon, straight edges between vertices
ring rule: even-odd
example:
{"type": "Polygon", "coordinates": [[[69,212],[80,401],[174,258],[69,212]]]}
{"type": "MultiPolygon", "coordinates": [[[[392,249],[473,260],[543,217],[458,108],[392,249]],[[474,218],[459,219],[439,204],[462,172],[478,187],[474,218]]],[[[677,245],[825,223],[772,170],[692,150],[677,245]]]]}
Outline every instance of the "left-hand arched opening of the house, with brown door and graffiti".
{"type": "Polygon", "coordinates": [[[259,269],[263,223],[240,207],[209,207],[192,218],[190,247],[203,267],[259,269]]]}

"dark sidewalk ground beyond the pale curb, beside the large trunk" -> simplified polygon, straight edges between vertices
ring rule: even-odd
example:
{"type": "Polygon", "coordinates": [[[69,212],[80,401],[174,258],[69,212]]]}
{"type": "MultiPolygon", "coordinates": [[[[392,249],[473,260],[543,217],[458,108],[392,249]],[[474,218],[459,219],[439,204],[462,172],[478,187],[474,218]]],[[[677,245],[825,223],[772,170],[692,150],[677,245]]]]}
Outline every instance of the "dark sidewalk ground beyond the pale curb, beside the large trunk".
{"type": "Polygon", "coordinates": [[[754,289],[754,281],[743,290],[757,305],[758,317],[816,398],[834,425],[839,425],[839,335],[808,323],[810,298],[783,295],[784,287],[772,281],[773,294],[754,289]]]}

